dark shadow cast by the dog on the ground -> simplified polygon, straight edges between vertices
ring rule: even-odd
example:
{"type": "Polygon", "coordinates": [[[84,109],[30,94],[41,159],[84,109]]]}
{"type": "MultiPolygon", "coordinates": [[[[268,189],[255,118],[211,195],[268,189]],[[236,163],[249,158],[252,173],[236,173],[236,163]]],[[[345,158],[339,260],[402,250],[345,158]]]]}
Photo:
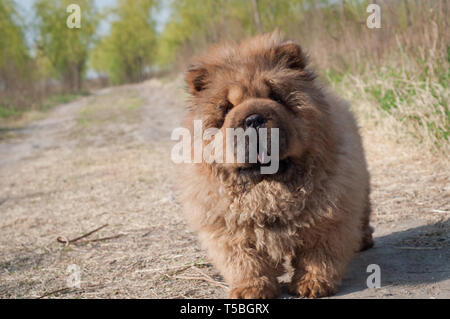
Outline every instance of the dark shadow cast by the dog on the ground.
{"type": "MultiPolygon", "coordinates": [[[[344,297],[367,289],[367,266],[381,270],[381,287],[415,286],[450,279],[450,221],[438,222],[375,238],[375,247],[358,253],[337,293],[344,297]]],[[[282,287],[282,298],[287,285],[282,287]]],[[[369,296],[367,296],[369,297],[369,296]]]]}

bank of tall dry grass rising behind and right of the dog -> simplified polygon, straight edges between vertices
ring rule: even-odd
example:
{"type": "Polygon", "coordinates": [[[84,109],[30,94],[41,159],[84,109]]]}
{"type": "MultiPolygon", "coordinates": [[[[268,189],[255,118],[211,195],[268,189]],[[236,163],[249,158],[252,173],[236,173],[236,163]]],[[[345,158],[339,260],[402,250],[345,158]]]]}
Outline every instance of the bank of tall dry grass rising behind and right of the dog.
{"type": "MultiPolygon", "coordinates": [[[[277,28],[301,44],[314,68],[326,70],[324,80],[352,101],[361,124],[377,124],[392,140],[450,155],[448,1],[378,1],[380,29],[366,25],[370,1],[259,3],[263,31],[277,28]]],[[[187,36],[176,66],[184,69],[211,42],[239,40],[258,29],[247,19],[255,14],[251,6],[227,2],[209,10],[198,13],[208,28],[187,36]],[[239,10],[248,14],[240,16],[239,10]],[[228,18],[232,24],[224,23],[228,18]]]]}

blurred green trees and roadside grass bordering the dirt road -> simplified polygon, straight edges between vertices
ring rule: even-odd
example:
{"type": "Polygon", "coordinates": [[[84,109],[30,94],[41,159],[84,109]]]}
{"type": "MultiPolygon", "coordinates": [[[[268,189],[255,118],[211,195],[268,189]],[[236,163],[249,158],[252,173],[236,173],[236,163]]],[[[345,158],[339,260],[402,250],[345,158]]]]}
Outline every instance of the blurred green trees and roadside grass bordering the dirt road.
{"type": "Polygon", "coordinates": [[[370,3],[118,0],[100,10],[93,1],[35,0],[30,25],[19,1],[0,0],[0,118],[99,86],[180,74],[212,43],[278,29],[307,50],[320,79],[352,102],[362,126],[448,155],[448,1],[378,1],[379,29],[366,25],[370,3]],[[81,29],[65,25],[69,2],[81,7],[81,29]],[[109,27],[100,32],[102,23],[109,27]]]}

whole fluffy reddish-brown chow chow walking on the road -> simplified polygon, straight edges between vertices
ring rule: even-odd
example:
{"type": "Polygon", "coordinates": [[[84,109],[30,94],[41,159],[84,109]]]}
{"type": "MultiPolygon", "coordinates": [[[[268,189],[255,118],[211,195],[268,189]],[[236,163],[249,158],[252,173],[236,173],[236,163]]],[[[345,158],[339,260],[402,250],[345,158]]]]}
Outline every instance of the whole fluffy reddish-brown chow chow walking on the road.
{"type": "MultiPolygon", "coordinates": [[[[184,213],[232,298],[274,298],[289,257],[290,291],[334,294],[355,252],[373,245],[369,174],[348,105],[321,88],[301,48],[278,34],[212,48],[187,73],[185,126],[245,127],[261,114],[279,128],[280,168],[189,164],[184,213]]],[[[224,134],[225,136],[225,134],[224,134]]]]}

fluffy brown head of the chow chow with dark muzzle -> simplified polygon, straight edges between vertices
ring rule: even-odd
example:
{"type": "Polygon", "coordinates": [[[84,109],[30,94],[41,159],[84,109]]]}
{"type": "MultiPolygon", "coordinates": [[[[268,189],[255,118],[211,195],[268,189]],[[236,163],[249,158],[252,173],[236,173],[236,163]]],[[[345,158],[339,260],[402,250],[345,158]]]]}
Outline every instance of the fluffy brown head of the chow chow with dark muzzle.
{"type": "MultiPolygon", "coordinates": [[[[187,118],[201,120],[204,131],[220,131],[225,160],[211,165],[238,174],[260,175],[261,166],[271,165],[267,159],[277,160],[280,169],[276,173],[282,174],[285,166],[301,160],[326,111],[314,78],[300,46],[283,41],[276,33],[239,45],[219,45],[198,58],[186,76],[192,96],[187,118]],[[236,136],[227,135],[227,129],[253,135],[247,134],[245,142],[239,143],[236,136]],[[267,142],[262,146],[264,138],[267,142]],[[252,146],[252,141],[256,145],[252,146]],[[239,147],[244,148],[244,162],[236,161],[239,147]],[[277,158],[273,158],[275,148],[277,158]],[[252,151],[257,153],[256,161],[252,151]],[[226,160],[230,152],[232,162],[226,160]]],[[[203,142],[206,145],[211,139],[203,142]]]]}

